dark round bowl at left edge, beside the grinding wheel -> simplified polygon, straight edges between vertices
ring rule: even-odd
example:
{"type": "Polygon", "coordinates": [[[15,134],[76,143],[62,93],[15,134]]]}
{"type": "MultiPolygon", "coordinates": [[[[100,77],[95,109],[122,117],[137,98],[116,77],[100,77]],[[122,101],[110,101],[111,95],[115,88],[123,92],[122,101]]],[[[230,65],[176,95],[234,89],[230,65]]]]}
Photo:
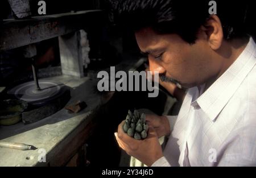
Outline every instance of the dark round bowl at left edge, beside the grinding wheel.
{"type": "Polygon", "coordinates": [[[23,100],[0,101],[0,125],[9,126],[19,122],[27,106],[27,102],[23,100]]]}

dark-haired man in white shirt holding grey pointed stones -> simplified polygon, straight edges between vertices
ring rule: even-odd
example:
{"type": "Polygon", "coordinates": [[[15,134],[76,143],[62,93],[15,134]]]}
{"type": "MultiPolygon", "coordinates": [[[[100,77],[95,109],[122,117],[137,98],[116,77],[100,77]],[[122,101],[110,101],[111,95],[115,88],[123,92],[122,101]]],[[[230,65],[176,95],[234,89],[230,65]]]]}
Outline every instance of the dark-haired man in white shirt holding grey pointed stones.
{"type": "Polygon", "coordinates": [[[146,116],[146,139],[118,126],[119,146],[148,166],[256,165],[256,45],[245,31],[247,6],[216,2],[217,14],[209,14],[209,1],[115,3],[150,71],[188,89],[179,115],[146,116]],[[163,135],[170,136],[164,150],[163,135]]]}

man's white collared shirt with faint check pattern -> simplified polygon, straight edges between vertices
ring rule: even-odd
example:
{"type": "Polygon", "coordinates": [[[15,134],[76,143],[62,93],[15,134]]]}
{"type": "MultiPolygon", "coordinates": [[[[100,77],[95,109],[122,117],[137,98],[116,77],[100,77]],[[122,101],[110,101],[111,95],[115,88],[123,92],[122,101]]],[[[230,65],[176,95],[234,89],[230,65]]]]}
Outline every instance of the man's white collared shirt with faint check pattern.
{"type": "MultiPolygon", "coordinates": [[[[256,165],[256,44],[249,43],[236,61],[203,93],[188,90],[164,157],[152,166],[256,165]]],[[[175,123],[173,123],[175,122],[175,123]]]]}

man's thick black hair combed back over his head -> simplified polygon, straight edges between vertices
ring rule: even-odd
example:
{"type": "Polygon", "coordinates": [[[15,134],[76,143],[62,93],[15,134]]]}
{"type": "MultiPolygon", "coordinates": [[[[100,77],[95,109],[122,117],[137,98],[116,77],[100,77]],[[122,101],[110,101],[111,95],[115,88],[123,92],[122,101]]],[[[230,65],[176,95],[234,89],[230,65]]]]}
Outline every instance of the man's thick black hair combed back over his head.
{"type": "MultiPolygon", "coordinates": [[[[195,43],[199,27],[209,18],[209,1],[195,0],[112,0],[112,19],[131,30],[151,27],[158,34],[177,34],[195,43]]],[[[216,1],[226,40],[246,34],[247,3],[216,1]]]]}

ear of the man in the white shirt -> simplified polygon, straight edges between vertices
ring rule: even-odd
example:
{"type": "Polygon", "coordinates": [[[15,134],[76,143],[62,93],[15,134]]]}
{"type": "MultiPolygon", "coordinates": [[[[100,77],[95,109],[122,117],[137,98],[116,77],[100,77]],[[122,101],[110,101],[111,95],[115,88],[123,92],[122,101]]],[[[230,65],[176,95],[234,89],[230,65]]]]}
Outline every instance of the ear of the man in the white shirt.
{"type": "Polygon", "coordinates": [[[207,36],[207,40],[210,48],[216,50],[221,47],[223,40],[223,30],[220,19],[217,15],[211,15],[204,26],[201,26],[201,30],[207,36]]]}

